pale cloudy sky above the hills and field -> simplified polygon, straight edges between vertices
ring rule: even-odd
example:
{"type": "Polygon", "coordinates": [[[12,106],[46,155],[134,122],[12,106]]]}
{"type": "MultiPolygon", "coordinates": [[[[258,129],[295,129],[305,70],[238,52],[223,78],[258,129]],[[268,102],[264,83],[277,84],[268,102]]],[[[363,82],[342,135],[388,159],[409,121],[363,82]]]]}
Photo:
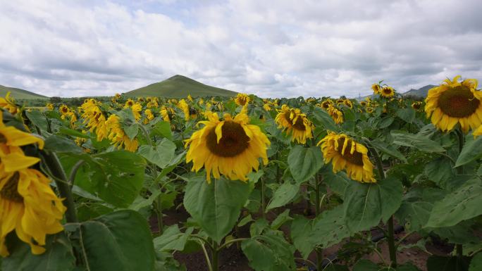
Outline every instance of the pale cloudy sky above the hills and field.
{"type": "Polygon", "coordinates": [[[262,97],[482,80],[480,0],[0,0],[0,84],[128,92],[176,74],[262,97]],[[135,3],[135,4],[132,4],[135,3]]]}

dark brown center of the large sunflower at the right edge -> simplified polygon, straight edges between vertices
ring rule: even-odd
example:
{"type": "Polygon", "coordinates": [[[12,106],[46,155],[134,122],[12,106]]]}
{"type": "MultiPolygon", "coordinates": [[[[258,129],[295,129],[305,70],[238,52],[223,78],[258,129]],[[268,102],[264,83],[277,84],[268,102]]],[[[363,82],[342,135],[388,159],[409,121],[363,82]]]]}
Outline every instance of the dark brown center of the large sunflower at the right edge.
{"type": "Polygon", "coordinates": [[[480,101],[466,87],[449,89],[438,98],[438,106],[445,114],[453,118],[466,118],[476,112],[480,101]]]}

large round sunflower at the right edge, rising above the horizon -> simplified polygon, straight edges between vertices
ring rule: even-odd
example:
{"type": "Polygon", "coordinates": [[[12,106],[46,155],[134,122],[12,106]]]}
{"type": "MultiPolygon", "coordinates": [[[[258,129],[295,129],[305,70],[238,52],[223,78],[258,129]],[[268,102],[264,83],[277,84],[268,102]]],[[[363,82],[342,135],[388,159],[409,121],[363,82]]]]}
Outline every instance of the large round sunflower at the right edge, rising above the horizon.
{"type": "Polygon", "coordinates": [[[460,75],[452,81],[446,79],[438,87],[428,90],[425,99],[427,118],[442,131],[452,130],[457,122],[464,132],[477,129],[482,124],[482,92],[476,90],[477,80],[458,82],[460,75]]]}

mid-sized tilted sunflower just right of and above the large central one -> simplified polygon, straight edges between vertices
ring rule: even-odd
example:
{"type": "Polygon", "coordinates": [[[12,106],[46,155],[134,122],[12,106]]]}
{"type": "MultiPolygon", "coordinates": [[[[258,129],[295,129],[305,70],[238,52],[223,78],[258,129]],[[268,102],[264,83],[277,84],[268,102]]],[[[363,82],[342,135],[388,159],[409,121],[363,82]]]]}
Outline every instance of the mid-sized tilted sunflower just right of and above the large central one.
{"type": "Polygon", "coordinates": [[[307,118],[307,115],[301,113],[298,108],[290,108],[283,104],[275,122],[278,128],[283,128],[287,134],[292,134],[291,141],[298,141],[301,144],[307,143],[307,138],[313,138],[311,131],[313,124],[307,118]]]}

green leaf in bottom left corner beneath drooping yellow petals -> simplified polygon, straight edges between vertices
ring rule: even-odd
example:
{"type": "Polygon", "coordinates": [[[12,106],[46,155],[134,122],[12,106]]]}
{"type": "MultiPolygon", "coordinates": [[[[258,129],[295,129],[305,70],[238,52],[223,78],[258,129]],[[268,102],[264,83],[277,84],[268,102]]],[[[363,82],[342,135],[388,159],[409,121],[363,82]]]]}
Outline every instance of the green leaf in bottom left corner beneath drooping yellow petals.
{"type": "Polygon", "coordinates": [[[70,271],[75,267],[72,246],[64,232],[48,235],[46,251],[33,255],[30,246],[17,237],[8,240],[10,256],[0,261],[4,271],[70,271]]]}

